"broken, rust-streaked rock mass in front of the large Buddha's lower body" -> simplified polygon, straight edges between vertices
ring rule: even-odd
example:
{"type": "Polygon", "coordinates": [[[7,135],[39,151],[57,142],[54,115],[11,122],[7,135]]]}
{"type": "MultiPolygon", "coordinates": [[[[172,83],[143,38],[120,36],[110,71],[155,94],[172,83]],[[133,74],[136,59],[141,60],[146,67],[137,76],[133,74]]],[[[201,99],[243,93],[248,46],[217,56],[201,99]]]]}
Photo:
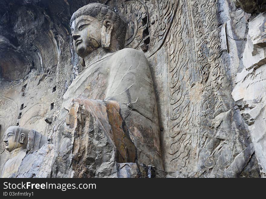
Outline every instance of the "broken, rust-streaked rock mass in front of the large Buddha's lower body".
{"type": "Polygon", "coordinates": [[[122,130],[118,104],[100,103],[75,99],[66,107],[54,128],[54,144],[47,143],[27,155],[18,177],[126,177],[127,172],[131,177],[147,175],[133,163],[145,160],[138,157],[134,143],[122,130]],[[130,171],[122,169],[124,165],[130,165],[130,171]]]}

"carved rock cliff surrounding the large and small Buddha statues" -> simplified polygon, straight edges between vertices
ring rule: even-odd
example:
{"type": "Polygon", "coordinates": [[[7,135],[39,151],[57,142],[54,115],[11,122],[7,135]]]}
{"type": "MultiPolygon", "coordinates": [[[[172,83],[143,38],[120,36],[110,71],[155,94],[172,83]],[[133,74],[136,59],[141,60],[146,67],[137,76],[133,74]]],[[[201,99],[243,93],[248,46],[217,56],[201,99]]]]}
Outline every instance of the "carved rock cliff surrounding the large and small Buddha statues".
{"type": "Polygon", "coordinates": [[[266,1],[97,1],[127,22],[125,47],[148,59],[161,168],[138,162],[130,130],[119,134],[117,106],[104,111],[117,114],[110,132],[129,146],[121,161],[80,101],[58,122],[63,95],[84,70],[70,18],[91,2],[0,2],[0,172],[5,130],[18,125],[48,141],[24,157],[17,177],[266,177],[266,1]]]}

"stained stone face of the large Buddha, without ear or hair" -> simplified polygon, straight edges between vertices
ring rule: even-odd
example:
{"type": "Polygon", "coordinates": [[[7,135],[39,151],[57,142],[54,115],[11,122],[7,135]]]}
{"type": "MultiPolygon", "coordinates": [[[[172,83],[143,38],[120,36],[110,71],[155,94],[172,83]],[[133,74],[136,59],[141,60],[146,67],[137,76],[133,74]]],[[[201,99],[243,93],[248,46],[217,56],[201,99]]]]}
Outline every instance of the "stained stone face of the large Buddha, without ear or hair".
{"type": "Polygon", "coordinates": [[[82,58],[101,46],[101,25],[94,17],[79,16],[72,22],[71,32],[74,50],[82,58]]]}

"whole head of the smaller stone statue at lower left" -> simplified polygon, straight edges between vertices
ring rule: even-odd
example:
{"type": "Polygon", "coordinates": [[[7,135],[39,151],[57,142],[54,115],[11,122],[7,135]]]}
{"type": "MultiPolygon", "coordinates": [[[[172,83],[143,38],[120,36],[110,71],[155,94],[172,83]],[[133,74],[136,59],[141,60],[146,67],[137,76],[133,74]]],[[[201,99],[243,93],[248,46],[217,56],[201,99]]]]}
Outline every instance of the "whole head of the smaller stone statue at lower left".
{"type": "Polygon", "coordinates": [[[3,140],[5,142],[5,149],[8,152],[11,152],[19,147],[21,147],[21,149],[26,149],[29,132],[30,131],[28,129],[18,126],[8,127],[3,140]]]}

